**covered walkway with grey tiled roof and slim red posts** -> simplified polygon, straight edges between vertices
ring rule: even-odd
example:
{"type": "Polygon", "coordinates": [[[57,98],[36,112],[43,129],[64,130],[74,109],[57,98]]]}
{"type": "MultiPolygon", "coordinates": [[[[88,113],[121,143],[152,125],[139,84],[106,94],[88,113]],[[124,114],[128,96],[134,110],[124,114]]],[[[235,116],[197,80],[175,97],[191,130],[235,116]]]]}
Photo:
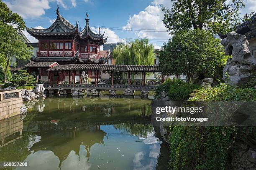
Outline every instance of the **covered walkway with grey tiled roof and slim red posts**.
{"type": "MultiPolygon", "coordinates": [[[[82,84],[81,74],[82,71],[85,71],[86,73],[94,72],[94,86],[97,88],[100,88],[98,86],[99,77],[100,77],[100,71],[103,72],[110,72],[111,77],[111,85],[113,87],[113,72],[115,71],[121,71],[121,72],[127,72],[128,73],[128,86],[131,85],[131,73],[133,72],[141,72],[142,73],[142,85],[145,86],[146,84],[146,72],[160,72],[158,65],[106,65],[106,64],[69,64],[69,65],[54,65],[53,67],[49,68],[48,70],[48,76],[50,80],[51,87],[52,84],[55,84],[59,87],[64,86],[64,82],[68,82],[68,85],[73,84],[73,87],[79,86],[83,88],[87,88],[88,85],[92,84],[82,84]],[[79,75],[79,83],[76,84],[76,77],[79,75]],[[53,78],[55,76],[56,78],[53,78]],[[52,82],[52,80],[56,81],[56,83],[52,82]]],[[[161,81],[164,81],[164,76],[161,75],[161,81]]],[[[66,85],[67,86],[67,85],[66,85]]],[[[105,85],[107,86],[107,85],[105,85]]],[[[105,87],[108,88],[108,87],[105,87]]]]}

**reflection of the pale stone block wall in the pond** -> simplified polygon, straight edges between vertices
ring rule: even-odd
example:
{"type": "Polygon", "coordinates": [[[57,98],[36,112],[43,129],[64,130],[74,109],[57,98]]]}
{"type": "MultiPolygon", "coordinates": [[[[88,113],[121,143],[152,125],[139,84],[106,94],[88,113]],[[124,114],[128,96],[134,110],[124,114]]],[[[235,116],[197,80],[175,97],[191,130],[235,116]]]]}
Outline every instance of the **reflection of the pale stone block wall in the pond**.
{"type": "Polygon", "coordinates": [[[23,120],[20,115],[0,120],[0,148],[22,138],[23,120]]]}

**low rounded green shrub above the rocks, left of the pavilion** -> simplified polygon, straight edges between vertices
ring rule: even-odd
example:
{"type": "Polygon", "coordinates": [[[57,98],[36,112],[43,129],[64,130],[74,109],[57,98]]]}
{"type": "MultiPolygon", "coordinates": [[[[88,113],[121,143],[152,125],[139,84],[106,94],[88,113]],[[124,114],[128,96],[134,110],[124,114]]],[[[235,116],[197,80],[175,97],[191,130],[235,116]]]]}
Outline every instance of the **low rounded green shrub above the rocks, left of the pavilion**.
{"type": "Polygon", "coordinates": [[[27,73],[27,70],[19,70],[17,74],[13,74],[11,82],[15,86],[28,86],[35,84],[37,81],[33,75],[27,73]]]}

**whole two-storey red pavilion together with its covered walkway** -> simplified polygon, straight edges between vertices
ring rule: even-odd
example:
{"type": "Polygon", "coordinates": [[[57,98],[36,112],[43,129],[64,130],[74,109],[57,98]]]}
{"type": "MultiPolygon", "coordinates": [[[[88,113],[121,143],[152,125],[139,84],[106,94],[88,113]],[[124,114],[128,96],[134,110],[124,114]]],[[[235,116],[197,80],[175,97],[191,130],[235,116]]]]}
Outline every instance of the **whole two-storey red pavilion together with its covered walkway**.
{"type": "Polygon", "coordinates": [[[38,51],[30,63],[12,69],[13,72],[26,69],[35,74],[37,80],[50,84],[81,84],[83,71],[97,84],[99,80],[108,79],[108,72],[111,72],[112,85],[113,71],[128,72],[128,85],[130,73],[141,72],[145,85],[146,72],[159,71],[156,65],[111,65],[108,61],[110,50],[100,51],[108,37],[104,38],[105,32],[100,35],[90,29],[88,15],[84,29],[79,32],[78,22],[74,26],[63,18],[59,6],[56,14],[57,18],[49,28],[26,28],[38,40],[38,51]]]}

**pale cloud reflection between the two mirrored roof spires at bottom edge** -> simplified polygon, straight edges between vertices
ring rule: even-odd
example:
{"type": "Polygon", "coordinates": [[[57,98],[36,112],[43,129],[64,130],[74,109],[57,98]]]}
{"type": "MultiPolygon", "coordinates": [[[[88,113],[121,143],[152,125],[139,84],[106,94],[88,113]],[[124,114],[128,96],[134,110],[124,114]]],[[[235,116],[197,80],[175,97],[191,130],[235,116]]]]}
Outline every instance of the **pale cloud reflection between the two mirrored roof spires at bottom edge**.
{"type": "Polygon", "coordinates": [[[69,153],[66,160],[61,163],[61,170],[88,170],[90,165],[86,158],[87,151],[84,145],[80,145],[79,155],[73,150],[69,153]]]}

